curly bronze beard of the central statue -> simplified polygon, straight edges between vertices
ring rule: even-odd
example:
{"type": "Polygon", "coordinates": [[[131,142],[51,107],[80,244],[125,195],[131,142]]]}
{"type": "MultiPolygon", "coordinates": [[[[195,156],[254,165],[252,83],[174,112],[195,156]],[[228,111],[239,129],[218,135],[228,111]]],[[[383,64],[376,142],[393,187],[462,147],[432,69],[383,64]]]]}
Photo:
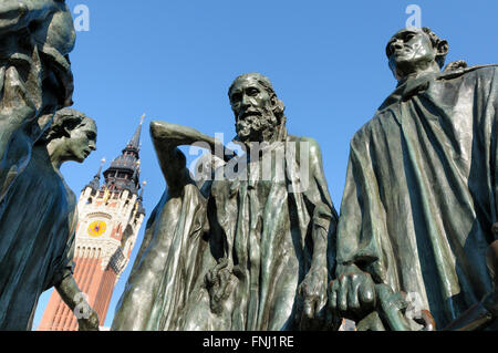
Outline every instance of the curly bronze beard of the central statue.
{"type": "Polygon", "coordinates": [[[272,111],[264,110],[260,114],[239,118],[236,124],[237,136],[243,144],[251,142],[270,142],[278,129],[278,118],[272,111]]]}

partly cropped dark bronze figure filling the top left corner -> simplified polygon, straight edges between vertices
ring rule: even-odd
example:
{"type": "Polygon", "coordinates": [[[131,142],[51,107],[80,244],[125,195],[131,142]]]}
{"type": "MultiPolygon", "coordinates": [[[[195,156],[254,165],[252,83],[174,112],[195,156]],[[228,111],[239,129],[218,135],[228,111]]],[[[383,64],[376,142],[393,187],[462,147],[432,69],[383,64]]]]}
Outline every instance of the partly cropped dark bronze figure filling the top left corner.
{"type": "Polygon", "coordinates": [[[72,104],[75,32],[63,0],[0,4],[0,200],[56,110],[72,104]]]}

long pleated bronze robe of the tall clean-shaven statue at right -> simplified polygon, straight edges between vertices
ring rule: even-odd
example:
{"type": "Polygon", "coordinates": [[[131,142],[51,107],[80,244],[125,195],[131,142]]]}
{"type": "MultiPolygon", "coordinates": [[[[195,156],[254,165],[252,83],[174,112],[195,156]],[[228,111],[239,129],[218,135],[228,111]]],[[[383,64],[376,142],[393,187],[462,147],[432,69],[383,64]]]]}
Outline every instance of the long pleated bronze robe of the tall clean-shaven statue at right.
{"type": "Polygon", "coordinates": [[[351,143],[336,276],[354,264],[418,294],[439,329],[492,289],[497,73],[476,66],[408,81],[351,143]]]}

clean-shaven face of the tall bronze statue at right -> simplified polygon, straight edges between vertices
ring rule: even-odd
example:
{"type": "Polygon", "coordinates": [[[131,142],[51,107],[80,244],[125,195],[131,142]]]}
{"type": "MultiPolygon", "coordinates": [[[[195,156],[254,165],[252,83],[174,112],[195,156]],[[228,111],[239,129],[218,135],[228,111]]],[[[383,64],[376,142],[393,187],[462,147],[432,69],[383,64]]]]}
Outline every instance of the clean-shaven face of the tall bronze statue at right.
{"type": "Polygon", "coordinates": [[[437,55],[437,49],[421,29],[401,30],[390,40],[386,51],[390,68],[398,80],[435,63],[437,55]]]}

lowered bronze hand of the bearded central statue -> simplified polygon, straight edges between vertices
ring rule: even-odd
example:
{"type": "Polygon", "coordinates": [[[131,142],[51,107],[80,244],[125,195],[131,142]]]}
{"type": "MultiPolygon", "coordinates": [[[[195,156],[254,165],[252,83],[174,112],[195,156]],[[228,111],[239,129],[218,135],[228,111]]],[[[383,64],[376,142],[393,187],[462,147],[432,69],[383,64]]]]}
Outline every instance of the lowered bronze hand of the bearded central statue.
{"type": "Polygon", "coordinates": [[[301,330],[318,330],[319,312],[326,303],[326,269],[311,269],[298,288],[303,301],[301,330]]]}

